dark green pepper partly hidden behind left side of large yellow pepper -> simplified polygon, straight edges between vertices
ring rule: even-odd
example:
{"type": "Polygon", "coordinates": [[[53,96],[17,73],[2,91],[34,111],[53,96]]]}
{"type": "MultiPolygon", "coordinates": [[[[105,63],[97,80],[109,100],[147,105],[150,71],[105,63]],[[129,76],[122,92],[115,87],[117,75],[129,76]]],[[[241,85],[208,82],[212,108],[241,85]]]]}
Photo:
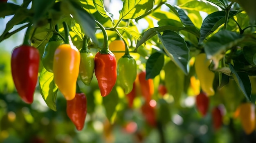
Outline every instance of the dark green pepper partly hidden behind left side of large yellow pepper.
{"type": "MultiPolygon", "coordinates": [[[[56,31],[58,32],[58,25],[55,26],[56,31]]],[[[64,44],[64,41],[61,39],[60,36],[57,34],[53,34],[50,38],[49,42],[45,45],[45,51],[42,57],[42,64],[45,69],[49,72],[53,72],[53,59],[54,59],[54,52],[58,46],[64,44]]]]}

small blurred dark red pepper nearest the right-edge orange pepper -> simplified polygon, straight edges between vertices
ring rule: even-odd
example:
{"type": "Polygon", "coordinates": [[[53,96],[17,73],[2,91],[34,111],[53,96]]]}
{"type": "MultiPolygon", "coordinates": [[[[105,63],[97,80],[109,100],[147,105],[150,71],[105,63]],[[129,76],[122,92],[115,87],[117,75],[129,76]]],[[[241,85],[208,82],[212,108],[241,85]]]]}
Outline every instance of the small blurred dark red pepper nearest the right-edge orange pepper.
{"type": "Polygon", "coordinates": [[[214,130],[218,130],[222,126],[222,110],[219,106],[213,108],[211,112],[211,116],[213,119],[213,128],[214,130]]]}

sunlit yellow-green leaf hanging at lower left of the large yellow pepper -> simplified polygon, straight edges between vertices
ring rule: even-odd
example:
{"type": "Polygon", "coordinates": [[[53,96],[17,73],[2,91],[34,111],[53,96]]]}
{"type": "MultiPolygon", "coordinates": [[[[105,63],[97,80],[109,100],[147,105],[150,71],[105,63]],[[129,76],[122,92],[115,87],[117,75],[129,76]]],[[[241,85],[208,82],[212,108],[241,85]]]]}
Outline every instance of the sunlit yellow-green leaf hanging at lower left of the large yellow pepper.
{"type": "Polygon", "coordinates": [[[54,83],[53,73],[48,72],[45,68],[43,68],[39,77],[39,89],[47,106],[50,109],[57,111],[56,97],[58,88],[54,83]]]}

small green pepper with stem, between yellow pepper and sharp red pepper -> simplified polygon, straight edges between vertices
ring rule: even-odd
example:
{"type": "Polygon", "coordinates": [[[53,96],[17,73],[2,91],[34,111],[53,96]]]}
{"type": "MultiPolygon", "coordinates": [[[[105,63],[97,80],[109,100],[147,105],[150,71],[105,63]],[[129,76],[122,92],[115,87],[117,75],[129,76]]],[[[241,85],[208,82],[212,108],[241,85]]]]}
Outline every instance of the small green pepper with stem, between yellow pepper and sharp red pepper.
{"type": "Polygon", "coordinates": [[[94,73],[94,57],[92,55],[92,52],[88,49],[87,40],[88,40],[88,37],[84,36],[83,47],[80,51],[81,60],[80,60],[79,76],[81,78],[81,81],[83,81],[83,83],[86,86],[89,86],[92,81],[92,77],[94,73]]]}

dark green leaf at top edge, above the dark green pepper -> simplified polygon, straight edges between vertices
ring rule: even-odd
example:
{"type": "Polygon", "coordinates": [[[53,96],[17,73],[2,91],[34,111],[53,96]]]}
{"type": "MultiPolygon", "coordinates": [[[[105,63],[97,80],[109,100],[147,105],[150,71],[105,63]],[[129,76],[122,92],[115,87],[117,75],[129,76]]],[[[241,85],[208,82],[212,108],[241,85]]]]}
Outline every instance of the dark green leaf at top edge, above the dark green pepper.
{"type": "Polygon", "coordinates": [[[54,5],[54,0],[33,0],[32,8],[34,11],[34,23],[37,23],[50,8],[54,5]]]}

